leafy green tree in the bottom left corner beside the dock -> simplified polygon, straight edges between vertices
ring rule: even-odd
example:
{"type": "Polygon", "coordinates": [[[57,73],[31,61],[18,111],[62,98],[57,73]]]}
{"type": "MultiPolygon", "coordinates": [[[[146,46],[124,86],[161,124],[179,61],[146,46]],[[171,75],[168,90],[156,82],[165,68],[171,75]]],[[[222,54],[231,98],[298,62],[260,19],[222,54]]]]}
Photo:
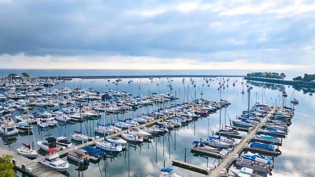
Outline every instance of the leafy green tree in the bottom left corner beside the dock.
{"type": "Polygon", "coordinates": [[[12,161],[12,155],[2,155],[0,157],[0,177],[13,177],[14,176],[14,170],[13,170],[13,163],[12,161]]]}

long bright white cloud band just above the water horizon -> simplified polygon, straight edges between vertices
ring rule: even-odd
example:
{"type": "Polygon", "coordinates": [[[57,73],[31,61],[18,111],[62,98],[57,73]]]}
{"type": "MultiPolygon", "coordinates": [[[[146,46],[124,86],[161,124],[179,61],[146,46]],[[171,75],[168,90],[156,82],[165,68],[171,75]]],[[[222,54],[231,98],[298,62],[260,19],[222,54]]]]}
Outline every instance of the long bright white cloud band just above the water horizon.
{"type": "MultiPolygon", "coordinates": [[[[222,55],[218,54],[218,55],[222,55]]],[[[247,54],[243,54],[246,56],[247,54]]],[[[269,64],[236,59],[228,62],[201,62],[187,58],[156,58],[130,56],[0,56],[2,68],[32,69],[306,69],[308,65],[269,64]],[[89,60],[90,62],[86,62],[89,60]]]]}

